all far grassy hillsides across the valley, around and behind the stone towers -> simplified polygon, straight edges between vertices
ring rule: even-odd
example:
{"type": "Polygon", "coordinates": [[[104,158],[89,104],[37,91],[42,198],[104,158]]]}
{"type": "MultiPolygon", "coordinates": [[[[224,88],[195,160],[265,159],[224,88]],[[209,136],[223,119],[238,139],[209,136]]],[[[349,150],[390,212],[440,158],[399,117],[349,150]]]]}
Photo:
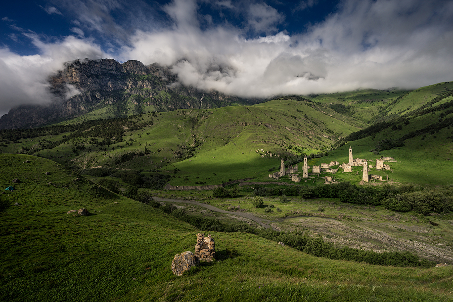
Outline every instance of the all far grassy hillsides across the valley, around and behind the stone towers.
{"type": "MultiPolygon", "coordinates": [[[[282,156],[289,152],[311,154],[327,151],[336,138],[369,125],[379,112],[388,111],[393,114],[403,112],[402,108],[417,109],[445,91],[446,87],[453,87],[453,83],[422,87],[411,92],[368,89],[319,95],[314,98],[315,102],[280,98],[254,106],[143,114],[134,120],[146,122],[148,126],[126,132],[124,136],[125,141],[132,145],[126,145],[124,142],[113,144],[103,151],[100,147],[88,143],[87,139],[87,150],[78,151],[77,154],[72,152],[72,142],[51,150],[42,150],[39,154],[59,163],[74,163],[82,168],[103,166],[145,171],[161,169],[172,175],[174,169],[179,169],[180,172],[171,180],[174,185],[197,185],[196,182],[218,184],[229,179],[249,177],[264,181],[269,179],[268,170],[279,167],[279,158],[262,158],[262,153],[256,153],[256,150],[263,148],[273,155],[282,156]],[[400,96],[402,97],[396,100],[400,96]],[[333,104],[347,105],[349,111],[345,114],[335,112],[328,107],[333,104]],[[138,152],[145,147],[151,151],[150,154],[115,164],[121,154],[138,152]],[[182,150],[187,155],[187,149],[184,148],[191,147],[194,148],[193,157],[175,162],[177,150],[182,150]]],[[[450,99],[451,97],[446,98],[435,105],[450,99]]],[[[382,151],[379,155],[369,152],[382,139],[397,139],[410,131],[437,123],[440,114],[441,111],[412,117],[410,124],[401,124],[401,130],[385,129],[374,138],[366,137],[347,143],[338,150],[329,152],[328,157],[310,160],[309,165],[330,161],[347,162],[348,148],[351,145],[355,158],[374,161],[380,156],[393,156],[398,160],[398,163],[389,164],[392,172],[371,170],[370,173],[382,175],[384,178],[389,176],[402,183],[451,184],[447,158],[453,155],[450,138],[453,132],[447,128],[435,134],[428,133],[424,138],[420,135],[408,139],[406,145],[400,149],[382,151]],[[430,156],[431,154],[433,156],[430,156]]],[[[450,115],[444,118],[449,117],[450,115]]],[[[22,146],[31,148],[39,140],[54,141],[61,135],[33,140],[20,139],[19,142],[0,148],[1,152],[15,153],[22,146]]],[[[361,180],[360,171],[359,175],[339,172],[334,177],[355,183],[361,180]]]]}

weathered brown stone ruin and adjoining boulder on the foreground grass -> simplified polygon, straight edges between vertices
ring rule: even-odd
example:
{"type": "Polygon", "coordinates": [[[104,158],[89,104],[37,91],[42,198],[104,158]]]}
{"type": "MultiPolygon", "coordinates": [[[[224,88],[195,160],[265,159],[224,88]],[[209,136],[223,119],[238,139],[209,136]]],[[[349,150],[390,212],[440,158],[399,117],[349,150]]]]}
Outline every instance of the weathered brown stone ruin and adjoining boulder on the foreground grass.
{"type": "Polygon", "coordinates": [[[195,253],[190,251],[176,254],[172,261],[174,275],[182,276],[182,273],[200,264],[200,260],[212,261],[216,257],[216,246],[211,235],[197,234],[195,253]]]}

